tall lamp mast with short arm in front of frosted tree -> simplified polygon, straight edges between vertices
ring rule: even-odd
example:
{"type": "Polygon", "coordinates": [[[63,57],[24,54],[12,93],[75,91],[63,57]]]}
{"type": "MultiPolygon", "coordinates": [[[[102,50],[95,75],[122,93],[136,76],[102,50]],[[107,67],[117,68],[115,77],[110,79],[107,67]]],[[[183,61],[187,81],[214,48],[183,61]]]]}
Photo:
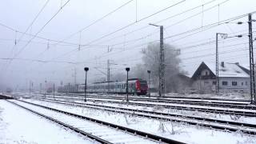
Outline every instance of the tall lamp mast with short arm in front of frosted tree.
{"type": "MultiPolygon", "coordinates": [[[[158,26],[150,23],[150,26],[158,26]]],[[[163,49],[163,26],[160,27],[160,56],[159,56],[159,97],[164,97],[165,94],[165,53],[163,49]]]]}

